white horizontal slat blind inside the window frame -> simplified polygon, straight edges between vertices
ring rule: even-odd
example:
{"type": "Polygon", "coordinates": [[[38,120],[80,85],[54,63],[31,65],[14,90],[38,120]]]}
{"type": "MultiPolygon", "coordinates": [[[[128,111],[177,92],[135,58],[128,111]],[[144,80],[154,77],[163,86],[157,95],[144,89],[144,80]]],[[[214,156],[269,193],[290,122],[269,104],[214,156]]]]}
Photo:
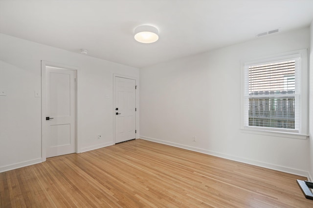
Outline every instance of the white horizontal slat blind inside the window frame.
{"type": "Polygon", "coordinates": [[[245,66],[245,125],[298,130],[300,59],[245,66]]]}

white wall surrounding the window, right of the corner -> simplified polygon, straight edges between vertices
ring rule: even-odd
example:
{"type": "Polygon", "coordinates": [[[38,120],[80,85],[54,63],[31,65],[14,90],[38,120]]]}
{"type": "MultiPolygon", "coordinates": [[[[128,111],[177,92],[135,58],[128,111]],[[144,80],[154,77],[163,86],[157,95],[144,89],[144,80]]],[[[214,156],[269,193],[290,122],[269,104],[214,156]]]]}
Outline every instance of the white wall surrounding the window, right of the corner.
{"type": "Polygon", "coordinates": [[[140,137],[307,176],[308,139],[241,132],[241,61],[309,46],[305,28],[140,69],[140,137]]]}

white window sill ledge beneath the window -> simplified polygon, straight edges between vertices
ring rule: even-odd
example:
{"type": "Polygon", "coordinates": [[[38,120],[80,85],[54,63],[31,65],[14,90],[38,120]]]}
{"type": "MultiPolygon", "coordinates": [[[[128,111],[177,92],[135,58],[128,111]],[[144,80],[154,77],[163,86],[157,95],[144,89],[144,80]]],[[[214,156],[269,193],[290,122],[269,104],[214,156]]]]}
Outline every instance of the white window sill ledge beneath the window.
{"type": "Polygon", "coordinates": [[[309,135],[307,134],[300,134],[300,133],[293,133],[293,132],[276,132],[276,131],[260,130],[260,129],[254,129],[254,128],[245,128],[245,129],[241,129],[241,131],[243,133],[278,136],[278,137],[285,137],[285,138],[292,138],[292,139],[309,139],[309,135]]]}

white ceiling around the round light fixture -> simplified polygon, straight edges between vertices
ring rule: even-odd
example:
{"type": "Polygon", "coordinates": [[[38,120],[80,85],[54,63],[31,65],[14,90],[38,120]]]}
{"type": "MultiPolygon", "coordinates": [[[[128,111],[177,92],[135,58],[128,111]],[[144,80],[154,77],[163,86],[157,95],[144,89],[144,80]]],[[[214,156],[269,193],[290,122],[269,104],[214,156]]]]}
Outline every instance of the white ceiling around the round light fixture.
{"type": "Polygon", "coordinates": [[[0,0],[0,33],[142,68],[308,27],[313,0],[0,0]],[[152,44],[134,28],[159,30],[152,44]]]}

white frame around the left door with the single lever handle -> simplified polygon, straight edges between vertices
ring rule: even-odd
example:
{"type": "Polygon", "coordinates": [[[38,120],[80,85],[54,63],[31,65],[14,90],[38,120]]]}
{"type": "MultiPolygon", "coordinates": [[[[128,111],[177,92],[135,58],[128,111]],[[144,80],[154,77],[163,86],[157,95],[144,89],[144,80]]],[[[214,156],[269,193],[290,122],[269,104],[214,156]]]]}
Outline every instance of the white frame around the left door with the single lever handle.
{"type": "Polygon", "coordinates": [[[46,141],[47,136],[44,129],[44,122],[45,122],[45,115],[46,115],[46,108],[45,108],[45,67],[51,66],[51,67],[57,67],[65,70],[74,70],[75,76],[76,76],[76,82],[75,82],[75,152],[78,153],[80,150],[79,146],[79,140],[78,140],[78,74],[79,69],[75,66],[70,66],[66,64],[60,64],[60,63],[54,63],[50,61],[41,61],[41,157],[42,162],[45,162],[46,160],[46,141]]]}

